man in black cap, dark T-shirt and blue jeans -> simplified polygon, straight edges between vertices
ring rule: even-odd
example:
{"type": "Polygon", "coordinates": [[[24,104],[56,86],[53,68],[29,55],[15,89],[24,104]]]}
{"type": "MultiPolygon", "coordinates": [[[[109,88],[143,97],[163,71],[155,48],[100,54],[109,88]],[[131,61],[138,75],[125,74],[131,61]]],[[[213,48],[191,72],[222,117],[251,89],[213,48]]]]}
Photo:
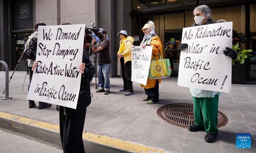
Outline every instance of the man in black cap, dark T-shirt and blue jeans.
{"type": "Polygon", "coordinates": [[[92,51],[97,52],[98,59],[98,82],[100,89],[96,92],[104,92],[104,95],[109,94],[110,91],[110,81],[109,81],[109,69],[110,69],[110,42],[107,39],[107,32],[105,30],[100,30],[96,35],[99,37],[100,41],[96,43],[96,39],[92,39],[92,51]]]}

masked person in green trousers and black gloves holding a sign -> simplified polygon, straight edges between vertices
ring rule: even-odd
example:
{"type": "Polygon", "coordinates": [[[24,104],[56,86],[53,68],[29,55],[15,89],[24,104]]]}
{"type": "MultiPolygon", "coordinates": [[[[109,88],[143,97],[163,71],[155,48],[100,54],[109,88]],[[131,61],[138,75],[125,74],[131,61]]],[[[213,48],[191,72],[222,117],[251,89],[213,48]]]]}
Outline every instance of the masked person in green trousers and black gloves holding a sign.
{"type": "MultiPolygon", "coordinates": [[[[211,10],[206,5],[197,6],[193,14],[195,23],[192,26],[216,23],[211,19],[211,10]]],[[[177,51],[180,52],[187,47],[188,44],[182,43],[178,46],[177,51]]],[[[235,59],[237,56],[235,50],[229,47],[226,47],[223,53],[232,59],[235,59]]],[[[204,140],[209,143],[215,142],[218,137],[218,103],[221,92],[193,88],[190,88],[190,92],[193,97],[195,124],[189,126],[188,130],[196,132],[205,129],[207,134],[204,140]]]]}

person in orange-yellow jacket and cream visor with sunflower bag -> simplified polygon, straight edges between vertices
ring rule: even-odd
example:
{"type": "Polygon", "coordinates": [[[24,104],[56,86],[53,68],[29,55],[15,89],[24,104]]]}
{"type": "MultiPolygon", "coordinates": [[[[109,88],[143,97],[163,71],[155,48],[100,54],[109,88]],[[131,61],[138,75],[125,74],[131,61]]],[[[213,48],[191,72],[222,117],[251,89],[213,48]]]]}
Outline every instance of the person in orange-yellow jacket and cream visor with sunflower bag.
{"type": "MultiPolygon", "coordinates": [[[[145,34],[143,40],[140,43],[142,48],[146,46],[153,46],[151,61],[153,60],[153,55],[155,55],[155,60],[159,59],[159,53],[161,58],[163,58],[163,48],[161,39],[156,35],[155,24],[153,21],[148,21],[142,28],[143,33],[145,34]]],[[[145,94],[148,95],[146,98],[143,98],[143,101],[147,101],[147,104],[157,104],[159,103],[159,83],[161,79],[149,79],[147,84],[140,84],[141,87],[144,87],[145,94]]]]}

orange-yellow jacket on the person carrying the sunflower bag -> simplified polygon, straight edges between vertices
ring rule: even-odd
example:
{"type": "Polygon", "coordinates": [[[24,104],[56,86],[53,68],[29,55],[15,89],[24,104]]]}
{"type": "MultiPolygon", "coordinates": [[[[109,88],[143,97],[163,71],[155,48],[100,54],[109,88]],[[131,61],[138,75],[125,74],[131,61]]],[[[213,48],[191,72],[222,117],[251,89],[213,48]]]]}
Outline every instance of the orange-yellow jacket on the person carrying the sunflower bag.
{"type": "MultiPolygon", "coordinates": [[[[153,36],[151,39],[151,42],[148,41],[147,44],[150,44],[153,46],[152,49],[152,56],[151,61],[153,60],[153,55],[155,55],[155,60],[159,59],[159,53],[161,55],[161,58],[163,58],[163,48],[162,48],[162,42],[161,39],[158,36],[153,36]]],[[[161,83],[161,79],[158,79],[159,83],[161,83]]],[[[147,80],[146,86],[143,84],[140,84],[141,87],[144,87],[145,89],[153,88],[156,86],[156,79],[149,79],[147,80]]]]}

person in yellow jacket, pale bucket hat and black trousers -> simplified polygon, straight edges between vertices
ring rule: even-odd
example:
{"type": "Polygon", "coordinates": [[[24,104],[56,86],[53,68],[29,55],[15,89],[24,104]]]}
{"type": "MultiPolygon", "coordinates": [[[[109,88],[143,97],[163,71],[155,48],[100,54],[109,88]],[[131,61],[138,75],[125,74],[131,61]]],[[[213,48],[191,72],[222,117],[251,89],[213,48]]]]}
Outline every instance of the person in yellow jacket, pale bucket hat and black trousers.
{"type": "Polygon", "coordinates": [[[131,36],[127,37],[127,32],[121,30],[117,33],[120,37],[120,47],[117,53],[119,61],[121,62],[122,68],[122,78],[124,81],[123,89],[120,89],[120,92],[126,91],[125,96],[130,96],[134,94],[132,87],[132,51],[131,47],[133,46],[134,39],[131,36]]]}

